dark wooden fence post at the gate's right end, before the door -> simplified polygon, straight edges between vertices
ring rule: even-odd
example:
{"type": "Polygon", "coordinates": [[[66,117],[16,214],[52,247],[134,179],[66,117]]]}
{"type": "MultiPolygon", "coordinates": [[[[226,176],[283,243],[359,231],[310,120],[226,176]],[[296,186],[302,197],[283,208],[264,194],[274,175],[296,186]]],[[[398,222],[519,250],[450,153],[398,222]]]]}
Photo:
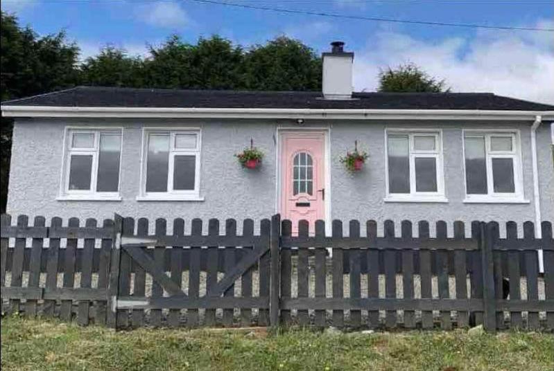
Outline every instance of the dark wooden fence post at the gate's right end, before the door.
{"type": "Polygon", "coordinates": [[[279,245],[281,242],[281,215],[271,217],[270,232],[270,293],[269,293],[269,320],[271,327],[279,325],[279,288],[281,286],[279,272],[279,245]]]}

